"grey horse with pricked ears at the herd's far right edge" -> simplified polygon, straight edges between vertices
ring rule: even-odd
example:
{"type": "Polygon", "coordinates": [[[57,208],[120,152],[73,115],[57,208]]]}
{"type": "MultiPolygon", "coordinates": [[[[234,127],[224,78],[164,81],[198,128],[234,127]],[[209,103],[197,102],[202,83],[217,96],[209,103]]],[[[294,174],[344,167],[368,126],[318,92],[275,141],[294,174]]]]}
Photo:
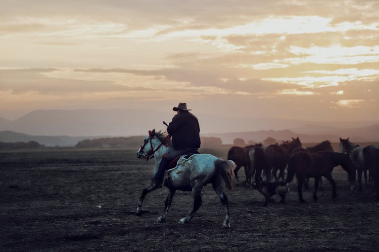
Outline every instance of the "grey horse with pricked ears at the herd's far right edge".
{"type": "Polygon", "coordinates": [[[349,138],[340,138],[340,152],[349,154],[358,173],[359,191],[362,191],[362,171],[364,182],[367,186],[367,170],[374,179],[376,188],[376,200],[379,201],[379,147],[368,145],[361,147],[349,141],[349,138]]]}

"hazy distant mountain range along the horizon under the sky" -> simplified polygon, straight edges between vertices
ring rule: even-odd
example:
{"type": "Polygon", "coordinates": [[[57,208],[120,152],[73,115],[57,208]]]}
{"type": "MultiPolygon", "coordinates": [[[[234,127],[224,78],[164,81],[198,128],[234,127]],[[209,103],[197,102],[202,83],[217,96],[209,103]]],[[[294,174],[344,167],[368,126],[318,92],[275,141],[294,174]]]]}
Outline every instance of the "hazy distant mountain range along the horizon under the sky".
{"type": "MultiPolygon", "coordinates": [[[[338,142],[340,137],[356,142],[379,141],[379,121],[314,122],[195,114],[201,135],[221,138],[223,144],[231,144],[235,138],[261,142],[267,137],[280,141],[297,136],[309,143],[338,142]]],[[[46,146],[73,146],[83,139],[145,136],[148,130],[165,130],[162,121],[170,122],[173,115],[173,111],[138,109],[36,110],[16,120],[0,117],[0,131],[6,131],[0,135],[0,142],[34,140],[46,146]]]]}

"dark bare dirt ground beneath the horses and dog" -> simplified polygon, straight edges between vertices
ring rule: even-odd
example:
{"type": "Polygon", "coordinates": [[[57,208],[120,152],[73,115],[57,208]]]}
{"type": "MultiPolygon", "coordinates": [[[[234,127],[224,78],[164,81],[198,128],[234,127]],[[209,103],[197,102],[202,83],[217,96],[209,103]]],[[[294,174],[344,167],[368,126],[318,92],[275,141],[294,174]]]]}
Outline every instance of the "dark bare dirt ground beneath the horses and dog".
{"type": "Polygon", "coordinates": [[[268,207],[256,190],[234,186],[226,192],[231,228],[224,229],[221,203],[208,185],[191,223],[178,221],[191,210],[192,195],[177,192],[167,222],[160,224],[167,188],[147,196],[150,213],[135,214],[153,169],[153,161],[137,159],[136,151],[0,152],[0,250],[379,250],[379,204],[368,188],[349,193],[340,167],[333,172],[335,202],[325,179],[318,202],[306,191],[307,203],[299,203],[292,187],[287,205],[274,196],[268,207]]]}

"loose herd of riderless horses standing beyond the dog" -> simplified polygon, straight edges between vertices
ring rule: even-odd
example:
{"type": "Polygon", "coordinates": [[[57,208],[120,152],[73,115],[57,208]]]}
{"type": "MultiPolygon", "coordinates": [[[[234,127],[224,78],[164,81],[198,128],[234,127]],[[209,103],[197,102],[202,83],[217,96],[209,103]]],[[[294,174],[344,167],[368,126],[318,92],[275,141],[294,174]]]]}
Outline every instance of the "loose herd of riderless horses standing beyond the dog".
{"type": "Polygon", "coordinates": [[[358,174],[358,190],[362,191],[362,172],[365,185],[368,182],[376,192],[376,200],[379,201],[379,147],[369,145],[361,147],[348,139],[340,138],[339,152],[335,152],[329,141],[303,148],[299,138],[292,141],[284,141],[282,144],[272,144],[263,147],[256,144],[245,147],[233,146],[229,149],[228,160],[236,164],[234,176],[239,185],[238,171],[245,168],[246,180],[244,183],[257,186],[261,182],[262,174],[266,181],[282,180],[290,183],[295,174],[298,180],[298,193],[300,202],[304,202],[302,187],[308,189],[308,179],[314,178],[313,199],[317,200],[317,189],[322,184],[321,177],[325,177],[332,186],[332,198],[336,198],[336,183],[331,176],[333,168],[340,165],[348,173],[351,191],[355,187],[355,176],[358,174]],[[285,178],[285,169],[287,177],[285,178]],[[279,175],[277,172],[279,171],[279,175]],[[254,182],[251,181],[254,176],[254,182]]]}

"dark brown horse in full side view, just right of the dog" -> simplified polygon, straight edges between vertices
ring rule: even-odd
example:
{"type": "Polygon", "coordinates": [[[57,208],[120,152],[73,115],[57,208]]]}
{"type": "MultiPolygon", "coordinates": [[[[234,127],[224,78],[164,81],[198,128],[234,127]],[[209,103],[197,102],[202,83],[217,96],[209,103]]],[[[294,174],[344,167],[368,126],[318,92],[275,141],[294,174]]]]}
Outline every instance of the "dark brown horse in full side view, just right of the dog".
{"type": "MultiPolygon", "coordinates": [[[[354,190],[355,183],[355,167],[351,162],[349,155],[321,151],[317,153],[312,152],[297,152],[293,154],[288,161],[288,174],[286,182],[290,183],[295,174],[298,179],[298,193],[300,202],[304,202],[302,194],[302,184],[306,177],[320,177],[324,176],[332,186],[332,199],[336,200],[336,182],[331,176],[333,168],[341,165],[347,171],[351,185],[351,191],[354,190]]],[[[317,201],[317,187],[318,179],[314,180],[313,200],[317,201]]]]}

